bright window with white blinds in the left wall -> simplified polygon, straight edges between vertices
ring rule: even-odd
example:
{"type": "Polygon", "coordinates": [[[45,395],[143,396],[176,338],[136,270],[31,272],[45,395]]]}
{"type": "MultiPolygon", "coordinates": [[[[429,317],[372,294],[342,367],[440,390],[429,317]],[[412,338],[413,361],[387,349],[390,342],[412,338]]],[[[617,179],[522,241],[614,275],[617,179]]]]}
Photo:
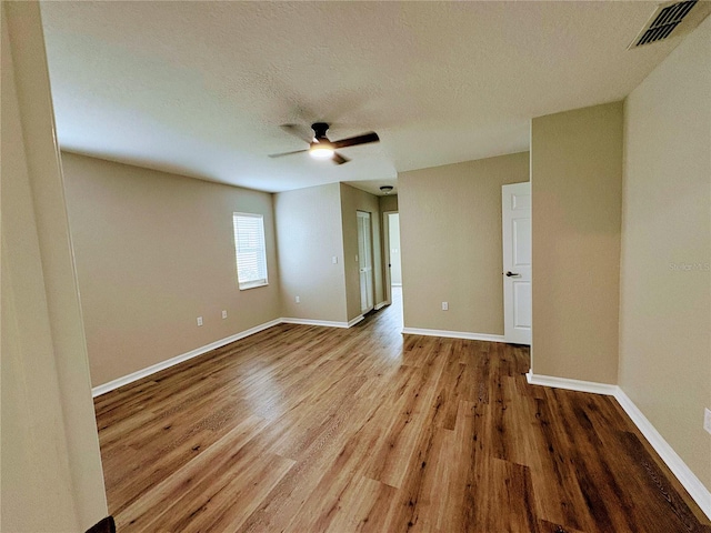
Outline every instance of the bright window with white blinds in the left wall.
{"type": "Polygon", "coordinates": [[[261,214],[234,213],[232,222],[240,291],[266,285],[264,218],[261,214]]]}

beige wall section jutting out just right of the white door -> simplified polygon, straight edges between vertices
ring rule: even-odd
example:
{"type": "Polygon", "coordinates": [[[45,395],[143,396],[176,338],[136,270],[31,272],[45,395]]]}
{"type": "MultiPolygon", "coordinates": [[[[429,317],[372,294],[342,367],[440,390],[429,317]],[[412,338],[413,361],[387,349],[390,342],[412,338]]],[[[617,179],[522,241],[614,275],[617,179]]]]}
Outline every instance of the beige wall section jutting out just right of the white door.
{"type": "Polygon", "coordinates": [[[618,379],[622,102],[533,119],[535,374],[618,379]]]}

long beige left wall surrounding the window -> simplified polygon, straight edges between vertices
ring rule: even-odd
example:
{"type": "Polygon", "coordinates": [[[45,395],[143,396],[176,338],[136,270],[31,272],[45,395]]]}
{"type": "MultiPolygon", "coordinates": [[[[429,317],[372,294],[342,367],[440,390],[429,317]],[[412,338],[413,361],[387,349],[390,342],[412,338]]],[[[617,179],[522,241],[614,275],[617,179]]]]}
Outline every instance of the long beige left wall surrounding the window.
{"type": "Polygon", "coordinates": [[[94,385],[279,318],[271,194],[62,160],[94,385]],[[268,286],[237,286],[236,211],[264,215],[268,286]]]}

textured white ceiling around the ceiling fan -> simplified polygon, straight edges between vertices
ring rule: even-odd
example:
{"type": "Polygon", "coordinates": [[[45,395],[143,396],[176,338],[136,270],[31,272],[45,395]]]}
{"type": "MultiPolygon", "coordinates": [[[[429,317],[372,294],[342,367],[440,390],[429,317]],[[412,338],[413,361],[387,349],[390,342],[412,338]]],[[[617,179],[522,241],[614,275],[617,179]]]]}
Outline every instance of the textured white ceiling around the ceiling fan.
{"type": "Polygon", "coordinates": [[[63,149],[264,191],[529,149],[532,117],[620,100],[677,44],[651,2],[43,2],[63,149]],[[374,130],[333,165],[283,123],[374,130]]]}

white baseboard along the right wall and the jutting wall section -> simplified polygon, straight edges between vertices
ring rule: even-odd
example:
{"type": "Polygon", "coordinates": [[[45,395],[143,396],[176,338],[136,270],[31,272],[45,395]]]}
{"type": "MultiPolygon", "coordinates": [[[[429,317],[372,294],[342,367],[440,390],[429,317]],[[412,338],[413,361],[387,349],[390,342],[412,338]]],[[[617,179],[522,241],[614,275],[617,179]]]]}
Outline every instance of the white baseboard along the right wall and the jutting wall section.
{"type": "Polygon", "coordinates": [[[550,375],[535,375],[532,372],[525,374],[525,379],[532,385],[553,386],[557,389],[565,389],[569,391],[591,392],[594,394],[605,394],[614,396],[627,415],[637,425],[640,433],[652,445],[661,460],[669,466],[669,470],[677,476],[679,482],[687,490],[689,495],[701,507],[701,511],[711,520],[711,491],[697,477],[691,469],[677,454],[673,447],[657,431],[652,423],[644,416],[642,411],[630,400],[622,389],[618,385],[608,383],[595,383],[592,381],[568,380],[564,378],[554,378],[550,375]]]}

